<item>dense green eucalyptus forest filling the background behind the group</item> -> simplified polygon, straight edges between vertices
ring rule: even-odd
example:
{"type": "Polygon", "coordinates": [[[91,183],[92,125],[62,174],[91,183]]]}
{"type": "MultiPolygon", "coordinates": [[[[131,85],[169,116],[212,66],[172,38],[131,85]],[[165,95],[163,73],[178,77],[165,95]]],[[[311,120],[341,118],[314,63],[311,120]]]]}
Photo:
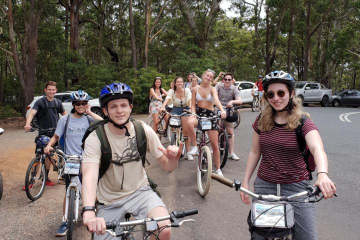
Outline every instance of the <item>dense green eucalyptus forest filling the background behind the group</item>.
{"type": "Polygon", "coordinates": [[[211,68],[236,80],[284,70],[360,88],[360,0],[1,0],[0,117],[24,115],[48,80],[93,97],[129,84],[146,112],[155,76],[211,68]],[[226,16],[231,10],[235,16],[226,16]]]}

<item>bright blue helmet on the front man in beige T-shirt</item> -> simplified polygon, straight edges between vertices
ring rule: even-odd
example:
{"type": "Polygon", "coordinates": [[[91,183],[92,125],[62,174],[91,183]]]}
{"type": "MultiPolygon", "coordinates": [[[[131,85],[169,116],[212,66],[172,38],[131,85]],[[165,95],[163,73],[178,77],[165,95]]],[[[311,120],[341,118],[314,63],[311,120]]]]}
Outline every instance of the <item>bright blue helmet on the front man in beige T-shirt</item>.
{"type": "Polygon", "coordinates": [[[109,100],[125,97],[130,100],[131,104],[133,101],[133,92],[131,88],[122,82],[112,82],[101,89],[99,103],[101,107],[104,107],[109,100]]]}

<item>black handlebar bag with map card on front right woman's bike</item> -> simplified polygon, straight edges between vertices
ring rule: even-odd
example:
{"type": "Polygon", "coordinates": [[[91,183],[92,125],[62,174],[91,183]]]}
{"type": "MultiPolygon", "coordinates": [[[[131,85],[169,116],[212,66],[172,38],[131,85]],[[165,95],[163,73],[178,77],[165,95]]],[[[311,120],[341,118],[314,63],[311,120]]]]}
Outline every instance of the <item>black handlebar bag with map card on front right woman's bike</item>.
{"type": "Polygon", "coordinates": [[[294,222],[292,205],[286,201],[254,201],[247,217],[251,233],[268,237],[283,237],[291,234],[294,222]]]}

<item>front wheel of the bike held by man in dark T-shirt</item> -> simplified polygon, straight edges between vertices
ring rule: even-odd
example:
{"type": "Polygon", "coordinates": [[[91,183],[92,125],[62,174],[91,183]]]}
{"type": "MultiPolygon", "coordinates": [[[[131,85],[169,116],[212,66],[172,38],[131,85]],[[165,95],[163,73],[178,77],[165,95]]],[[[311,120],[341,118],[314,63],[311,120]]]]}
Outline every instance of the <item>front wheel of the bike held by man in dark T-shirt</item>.
{"type": "Polygon", "coordinates": [[[25,192],[32,201],[42,195],[47,179],[45,164],[40,159],[41,156],[36,156],[31,160],[25,175],[25,192]]]}

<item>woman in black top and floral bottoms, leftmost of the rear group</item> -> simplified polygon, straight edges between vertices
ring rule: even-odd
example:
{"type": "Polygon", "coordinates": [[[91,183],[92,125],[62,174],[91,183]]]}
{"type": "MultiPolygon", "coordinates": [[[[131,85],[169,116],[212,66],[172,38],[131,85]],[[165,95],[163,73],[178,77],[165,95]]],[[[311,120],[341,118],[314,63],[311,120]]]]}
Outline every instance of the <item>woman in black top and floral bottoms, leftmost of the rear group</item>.
{"type": "MultiPolygon", "coordinates": [[[[156,132],[158,123],[159,123],[159,109],[162,105],[163,99],[162,96],[166,96],[167,92],[165,89],[161,88],[161,77],[156,76],[152,82],[152,86],[149,92],[150,104],[149,104],[149,113],[152,115],[153,125],[152,129],[156,132]]],[[[165,121],[167,122],[167,116],[165,116],[165,121]]]]}

